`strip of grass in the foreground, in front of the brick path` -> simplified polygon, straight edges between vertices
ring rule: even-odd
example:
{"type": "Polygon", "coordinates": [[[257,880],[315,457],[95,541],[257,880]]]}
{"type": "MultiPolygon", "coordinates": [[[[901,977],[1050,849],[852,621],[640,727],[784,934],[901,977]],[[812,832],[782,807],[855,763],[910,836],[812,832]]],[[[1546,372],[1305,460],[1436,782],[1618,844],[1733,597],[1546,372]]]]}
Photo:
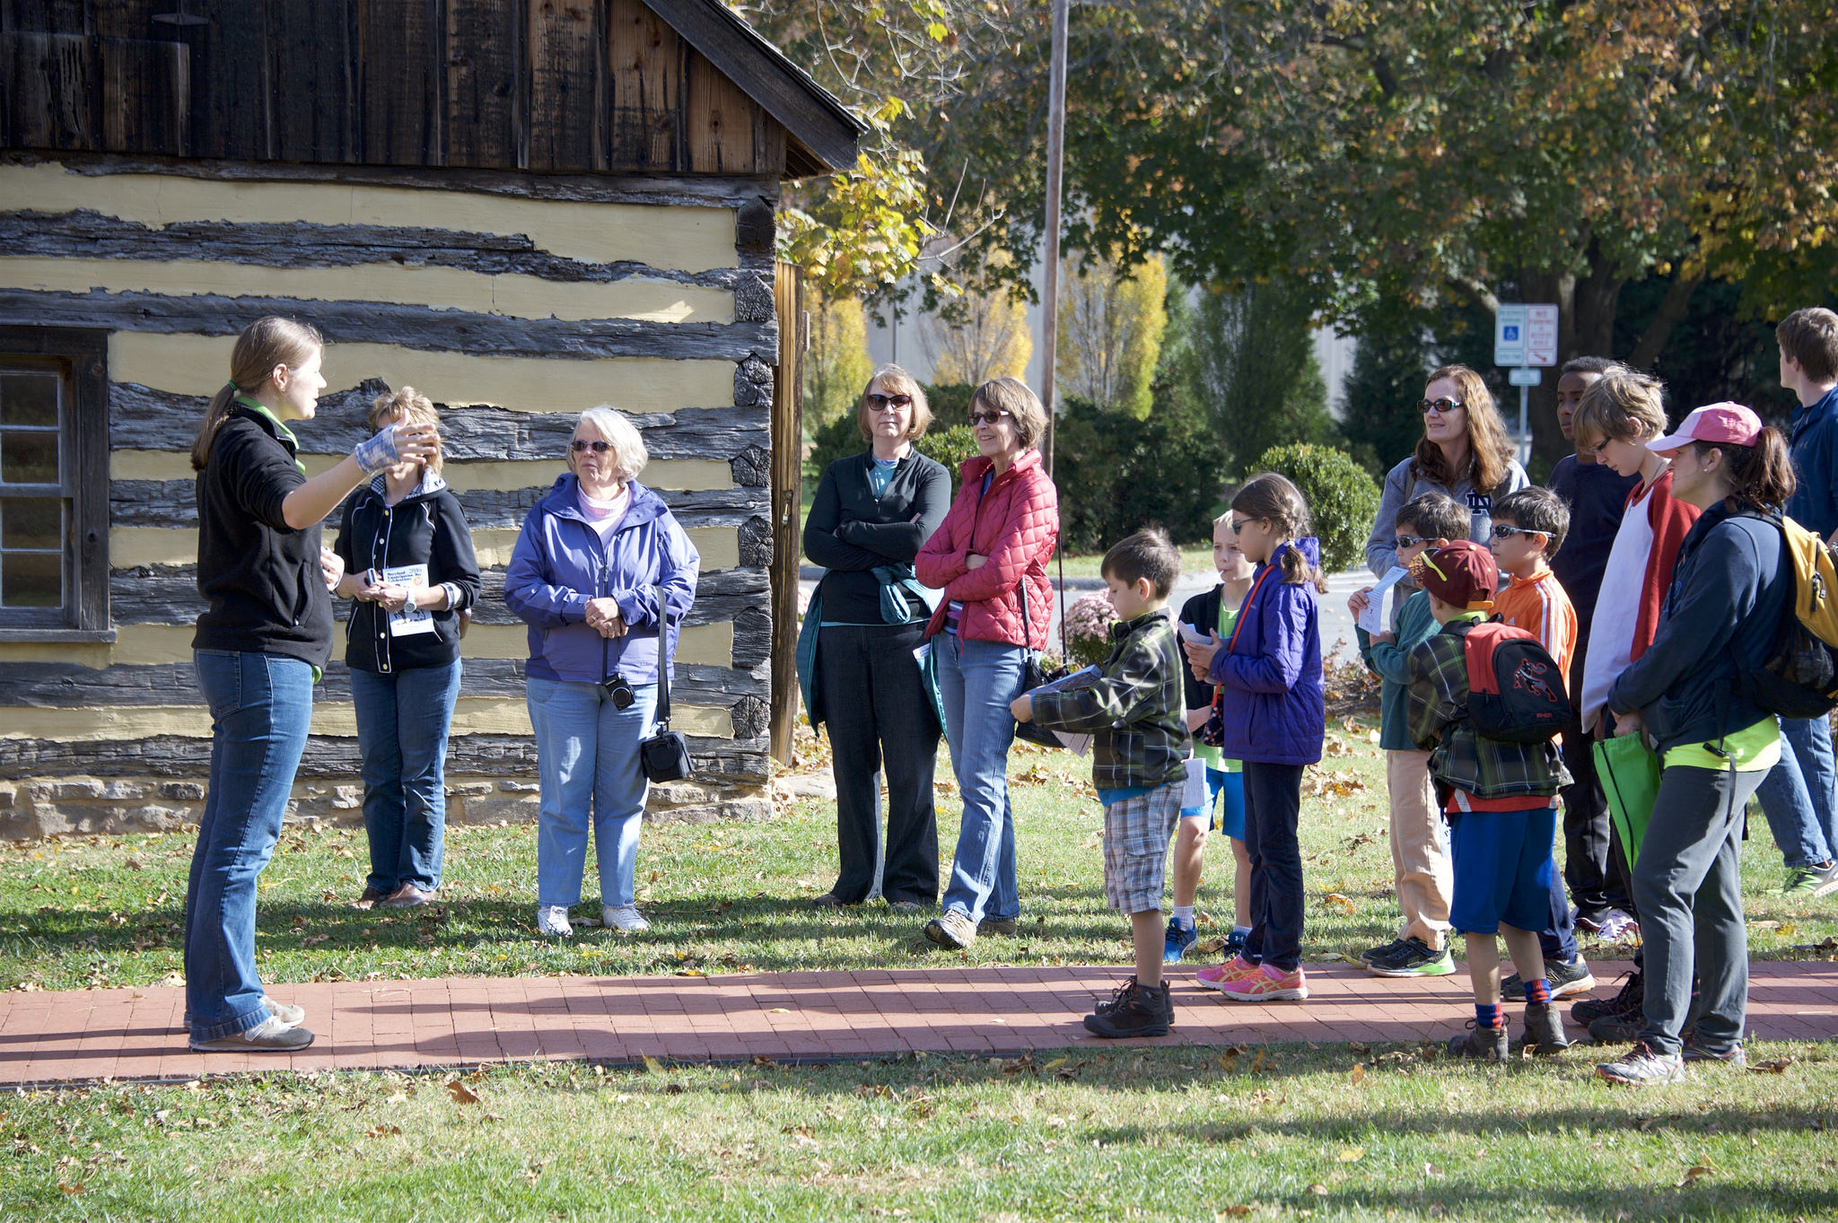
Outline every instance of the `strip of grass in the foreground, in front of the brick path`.
{"type": "Polygon", "coordinates": [[[33,1093],[0,1216],[1829,1219],[1832,1049],[1752,1056],[1643,1094],[1305,1045],[33,1093]]]}

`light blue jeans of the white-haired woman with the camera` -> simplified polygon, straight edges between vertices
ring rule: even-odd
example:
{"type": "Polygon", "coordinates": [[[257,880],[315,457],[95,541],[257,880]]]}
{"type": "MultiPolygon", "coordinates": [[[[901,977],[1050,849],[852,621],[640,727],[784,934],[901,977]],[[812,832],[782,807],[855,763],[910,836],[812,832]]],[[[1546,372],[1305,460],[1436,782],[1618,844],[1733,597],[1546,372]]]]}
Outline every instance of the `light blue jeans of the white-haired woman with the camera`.
{"type": "Polygon", "coordinates": [[[581,903],[588,821],[599,859],[599,902],[632,903],[645,773],[638,742],[651,735],[658,685],[632,685],[625,709],[597,683],[529,676],[529,725],[537,733],[542,806],[537,813],[537,903],[581,903]]]}

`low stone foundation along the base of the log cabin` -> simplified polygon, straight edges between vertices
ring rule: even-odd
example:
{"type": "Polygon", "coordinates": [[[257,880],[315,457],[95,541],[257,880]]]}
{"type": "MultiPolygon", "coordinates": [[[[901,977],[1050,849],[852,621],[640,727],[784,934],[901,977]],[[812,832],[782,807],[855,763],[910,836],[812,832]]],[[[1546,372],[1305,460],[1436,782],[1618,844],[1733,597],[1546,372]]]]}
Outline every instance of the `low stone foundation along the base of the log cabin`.
{"type": "MultiPolygon", "coordinates": [[[[448,777],[452,825],[533,825],[537,782],[502,777],[448,777]]],[[[158,777],[50,777],[0,782],[0,841],[66,834],[160,832],[197,825],[204,782],[158,777]]],[[[658,823],[772,819],[765,786],[704,784],[697,779],[651,788],[645,817],[658,823]]],[[[307,780],[294,784],[289,821],[360,825],[364,786],[307,780]]]]}

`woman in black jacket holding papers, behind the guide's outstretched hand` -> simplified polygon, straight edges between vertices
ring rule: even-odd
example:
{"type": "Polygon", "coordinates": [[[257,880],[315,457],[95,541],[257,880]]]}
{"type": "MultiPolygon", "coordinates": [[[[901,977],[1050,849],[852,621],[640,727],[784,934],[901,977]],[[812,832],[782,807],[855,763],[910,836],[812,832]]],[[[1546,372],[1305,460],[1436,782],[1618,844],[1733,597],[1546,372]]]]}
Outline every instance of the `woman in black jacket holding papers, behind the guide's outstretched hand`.
{"type": "MultiPolygon", "coordinates": [[[[379,395],[371,428],[437,426],[426,395],[379,395]]],[[[478,560],[460,498],[441,479],[441,452],[388,466],[346,501],[338,523],[357,599],[346,665],[364,764],[369,878],[358,909],[414,909],[441,887],[447,841],[447,733],[460,700],[461,615],[478,600],[478,560]]]]}

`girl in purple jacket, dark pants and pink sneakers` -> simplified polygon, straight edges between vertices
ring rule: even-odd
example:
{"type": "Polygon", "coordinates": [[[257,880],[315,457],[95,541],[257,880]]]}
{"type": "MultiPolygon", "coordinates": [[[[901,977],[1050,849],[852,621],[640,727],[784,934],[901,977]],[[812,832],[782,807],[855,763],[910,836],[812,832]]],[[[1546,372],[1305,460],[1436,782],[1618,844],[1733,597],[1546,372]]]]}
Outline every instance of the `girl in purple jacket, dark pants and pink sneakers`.
{"type": "Polygon", "coordinates": [[[1309,505],[1276,472],[1231,498],[1239,551],[1257,566],[1231,635],[1187,645],[1187,661],[1217,683],[1220,753],[1244,762],[1244,850],[1252,863],[1252,933],[1244,949],[1200,984],[1237,1003],[1309,997],[1301,971],[1301,769],[1322,758],[1322,634],[1316,623],[1320,544],[1309,505]]]}

